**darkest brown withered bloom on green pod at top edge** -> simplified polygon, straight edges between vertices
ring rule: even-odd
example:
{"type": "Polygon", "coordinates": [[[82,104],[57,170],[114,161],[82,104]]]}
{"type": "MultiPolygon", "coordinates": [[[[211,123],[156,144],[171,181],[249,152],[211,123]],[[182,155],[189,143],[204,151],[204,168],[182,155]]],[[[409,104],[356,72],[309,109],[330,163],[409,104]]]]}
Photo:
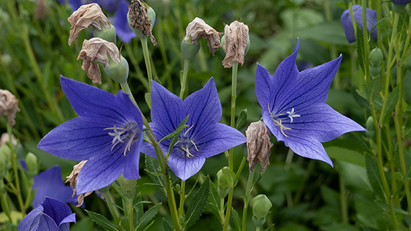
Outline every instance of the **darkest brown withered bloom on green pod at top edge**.
{"type": "Polygon", "coordinates": [[[156,13],[151,7],[148,7],[143,1],[133,0],[128,6],[127,20],[134,33],[139,37],[150,36],[154,46],[157,46],[156,38],[152,34],[152,21],[156,20],[156,13]],[[150,12],[149,12],[150,11],[150,12]],[[141,29],[140,31],[136,31],[141,29]]]}

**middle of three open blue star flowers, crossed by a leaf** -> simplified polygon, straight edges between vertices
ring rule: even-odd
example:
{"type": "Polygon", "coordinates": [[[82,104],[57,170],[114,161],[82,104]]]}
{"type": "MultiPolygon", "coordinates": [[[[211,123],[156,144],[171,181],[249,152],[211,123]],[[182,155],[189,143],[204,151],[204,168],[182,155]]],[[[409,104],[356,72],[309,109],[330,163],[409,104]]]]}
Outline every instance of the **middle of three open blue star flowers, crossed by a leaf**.
{"type": "MultiPolygon", "coordinates": [[[[247,142],[237,129],[218,123],[221,120],[221,103],[212,78],[202,89],[190,94],[184,101],[160,84],[152,81],[150,127],[160,140],[176,130],[187,116],[189,119],[174,145],[167,164],[174,174],[185,181],[196,174],[206,158],[247,142]]],[[[170,141],[160,143],[167,153],[170,141]]],[[[141,152],[156,158],[151,144],[143,143],[141,152]]]]}

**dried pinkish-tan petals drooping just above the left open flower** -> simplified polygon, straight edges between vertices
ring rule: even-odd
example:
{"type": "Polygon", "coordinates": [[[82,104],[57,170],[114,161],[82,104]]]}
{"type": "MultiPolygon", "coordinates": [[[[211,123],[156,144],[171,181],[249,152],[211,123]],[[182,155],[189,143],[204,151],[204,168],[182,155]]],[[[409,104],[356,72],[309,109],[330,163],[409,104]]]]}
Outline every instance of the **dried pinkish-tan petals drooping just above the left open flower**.
{"type": "Polygon", "coordinates": [[[88,78],[92,79],[93,83],[101,84],[100,67],[95,62],[104,64],[105,68],[110,67],[107,53],[110,55],[111,60],[120,63],[120,52],[114,43],[107,42],[99,37],[84,40],[77,60],[83,60],[81,68],[87,72],[88,78]]]}

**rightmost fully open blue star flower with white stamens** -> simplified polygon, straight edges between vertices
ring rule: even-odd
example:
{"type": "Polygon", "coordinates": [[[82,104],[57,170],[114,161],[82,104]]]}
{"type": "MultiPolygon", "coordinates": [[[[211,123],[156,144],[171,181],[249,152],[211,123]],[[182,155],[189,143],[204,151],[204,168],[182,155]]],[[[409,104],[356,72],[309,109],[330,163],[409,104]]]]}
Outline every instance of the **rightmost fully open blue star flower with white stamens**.
{"type": "Polygon", "coordinates": [[[274,76],[257,64],[255,92],[263,108],[263,121],[277,140],[284,141],[296,154],[332,166],[321,142],[365,129],[325,104],[342,56],[299,72],[295,65],[297,51],[298,42],[274,76]]]}

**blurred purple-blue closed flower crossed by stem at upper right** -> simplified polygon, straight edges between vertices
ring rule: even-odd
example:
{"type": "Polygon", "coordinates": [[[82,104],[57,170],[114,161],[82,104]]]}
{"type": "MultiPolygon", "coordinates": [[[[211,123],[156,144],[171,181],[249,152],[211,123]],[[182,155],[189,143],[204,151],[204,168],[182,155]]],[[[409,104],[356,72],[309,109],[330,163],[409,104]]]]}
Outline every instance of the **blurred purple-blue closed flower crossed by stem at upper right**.
{"type": "MultiPolygon", "coordinates": [[[[363,31],[363,13],[360,5],[353,5],[352,12],[354,13],[354,21],[360,25],[361,31],[363,31]]],[[[367,30],[371,32],[373,40],[377,40],[377,27],[372,31],[372,27],[377,24],[377,12],[367,8],[367,30]]],[[[341,25],[343,26],[345,36],[349,43],[356,42],[356,34],[352,26],[350,10],[344,10],[341,14],[341,25]]]]}

